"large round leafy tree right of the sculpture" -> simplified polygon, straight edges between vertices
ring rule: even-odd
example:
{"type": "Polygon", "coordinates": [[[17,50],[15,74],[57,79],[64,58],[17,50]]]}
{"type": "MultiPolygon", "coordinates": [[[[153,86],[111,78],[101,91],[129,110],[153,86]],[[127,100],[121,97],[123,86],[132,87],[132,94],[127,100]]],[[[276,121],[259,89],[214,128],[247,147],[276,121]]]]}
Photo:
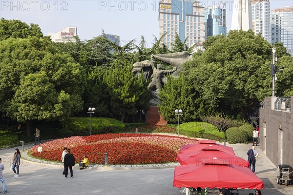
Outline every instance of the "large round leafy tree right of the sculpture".
{"type": "Polygon", "coordinates": [[[209,37],[204,47],[185,73],[210,106],[247,117],[251,105],[271,95],[272,45],[260,35],[230,31],[228,38],[209,37]]]}

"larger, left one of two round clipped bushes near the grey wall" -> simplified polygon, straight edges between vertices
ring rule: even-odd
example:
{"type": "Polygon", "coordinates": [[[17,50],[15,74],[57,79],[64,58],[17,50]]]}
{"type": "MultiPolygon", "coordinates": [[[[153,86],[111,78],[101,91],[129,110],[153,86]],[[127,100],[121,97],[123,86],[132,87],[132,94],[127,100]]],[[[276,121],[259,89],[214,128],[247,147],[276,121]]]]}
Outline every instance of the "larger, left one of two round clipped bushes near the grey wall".
{"type": "Polygon", "coordinates": [[[226,137],[229,143],[247,143],[248,133],[243,128],[231,127],[226,130],[226,137]]]}

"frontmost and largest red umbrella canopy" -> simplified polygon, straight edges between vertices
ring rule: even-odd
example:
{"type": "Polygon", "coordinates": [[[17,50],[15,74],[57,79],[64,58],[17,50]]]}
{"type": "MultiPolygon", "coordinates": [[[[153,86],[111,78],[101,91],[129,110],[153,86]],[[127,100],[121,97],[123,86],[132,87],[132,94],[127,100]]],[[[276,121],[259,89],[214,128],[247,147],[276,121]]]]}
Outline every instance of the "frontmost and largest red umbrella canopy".
{"type": "Polygon", "coordinates": [[[228,164],[199,163],[176,166],[173,186],[177,188],[262,189],[263,181],[249,168],[228,164]]]}

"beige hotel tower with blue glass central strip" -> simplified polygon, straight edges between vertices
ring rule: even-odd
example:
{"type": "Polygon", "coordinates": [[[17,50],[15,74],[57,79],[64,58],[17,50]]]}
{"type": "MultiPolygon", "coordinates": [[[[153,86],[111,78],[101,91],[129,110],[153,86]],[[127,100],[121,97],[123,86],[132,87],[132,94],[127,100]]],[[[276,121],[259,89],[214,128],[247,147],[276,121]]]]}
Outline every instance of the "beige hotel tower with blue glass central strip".
{"type": "Polygon", "coordinates": [[[160,37],[169,49],[176,32],[190,47],[204,41],[204,7],[195,0],[161,0],[159,3],[160,37]]]}

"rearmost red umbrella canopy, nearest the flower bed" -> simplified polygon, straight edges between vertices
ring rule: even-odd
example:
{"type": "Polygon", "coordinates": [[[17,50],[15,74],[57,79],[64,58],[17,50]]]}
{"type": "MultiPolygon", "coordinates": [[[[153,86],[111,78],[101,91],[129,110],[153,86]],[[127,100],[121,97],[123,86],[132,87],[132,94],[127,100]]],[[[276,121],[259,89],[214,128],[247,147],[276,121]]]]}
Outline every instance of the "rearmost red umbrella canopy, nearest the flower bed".
{"type": "MultiPolygon", "coordinates": [[[[184,146],[181,147],[181,149],[179,151],[179,154],[198,151],[198,150],[201,150],[201,149],[206,148],[206,147],[211,147],[211,148],[212,147],[213,148],[218,147],[217,150],[220,150],[220,151],[235,155],[234,150],[233,150],[232,147],[224,146],[224,145],[221,145],[221,144],[218,144],[218,143],[206,143],[206,141],[207,140],[202,140],[202,142],[199,141],[197,143],[184,145],[184,146]]],[[[212,141],[212,140],[208,140],[208,141],[212,141]]],[[[211,150],[213,150],[213,149],[211,149],[211,150]]]]}

